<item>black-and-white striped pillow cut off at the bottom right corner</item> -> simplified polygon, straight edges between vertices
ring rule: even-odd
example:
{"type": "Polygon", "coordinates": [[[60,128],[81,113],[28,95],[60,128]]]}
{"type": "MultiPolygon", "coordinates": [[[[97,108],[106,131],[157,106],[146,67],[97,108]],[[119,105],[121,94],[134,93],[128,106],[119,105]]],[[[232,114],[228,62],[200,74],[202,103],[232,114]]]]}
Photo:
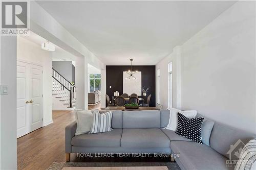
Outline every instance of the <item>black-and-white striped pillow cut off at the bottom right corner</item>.
{"type": "Polygon", "coordinates": [[[234,170],[256,169],[256,139],[250,140],[242,150],[234,170]]]}

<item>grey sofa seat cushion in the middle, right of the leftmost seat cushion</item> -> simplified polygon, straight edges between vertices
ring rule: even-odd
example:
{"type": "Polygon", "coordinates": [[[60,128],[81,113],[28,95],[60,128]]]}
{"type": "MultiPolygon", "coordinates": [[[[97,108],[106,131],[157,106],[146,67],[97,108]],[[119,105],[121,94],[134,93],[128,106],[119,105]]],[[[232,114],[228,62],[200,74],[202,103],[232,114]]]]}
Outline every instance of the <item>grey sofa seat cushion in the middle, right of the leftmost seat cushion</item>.
{"type": "Polygon", "coordinates": [[[168,148],[170,140],[157,128],[123,129],[121,147],[123,148],[168,148]]]}

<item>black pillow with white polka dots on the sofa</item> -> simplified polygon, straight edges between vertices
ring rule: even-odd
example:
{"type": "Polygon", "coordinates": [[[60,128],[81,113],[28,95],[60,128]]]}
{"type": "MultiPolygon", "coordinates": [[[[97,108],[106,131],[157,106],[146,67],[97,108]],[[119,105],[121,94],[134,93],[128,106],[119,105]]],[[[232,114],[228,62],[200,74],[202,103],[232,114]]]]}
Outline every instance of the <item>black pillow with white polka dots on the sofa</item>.
{"type": "Polygon", "coordinates": [[[177,113],[177,129],[175,133],[197,143],[203,143],[201,139],[201,126],[203,120],[203,117],[187,118],[181,113],[177,113]]]}

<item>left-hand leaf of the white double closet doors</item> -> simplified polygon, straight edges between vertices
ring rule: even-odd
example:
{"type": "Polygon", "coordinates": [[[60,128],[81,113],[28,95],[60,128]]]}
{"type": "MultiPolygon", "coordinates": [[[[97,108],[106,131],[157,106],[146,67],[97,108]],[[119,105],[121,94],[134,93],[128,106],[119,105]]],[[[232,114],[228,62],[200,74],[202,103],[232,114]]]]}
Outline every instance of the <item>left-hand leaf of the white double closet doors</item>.
{"type": "Polygon", "coordinates": [[[17,138],[29,133],[29,64],[17,62],[17,138]]]}

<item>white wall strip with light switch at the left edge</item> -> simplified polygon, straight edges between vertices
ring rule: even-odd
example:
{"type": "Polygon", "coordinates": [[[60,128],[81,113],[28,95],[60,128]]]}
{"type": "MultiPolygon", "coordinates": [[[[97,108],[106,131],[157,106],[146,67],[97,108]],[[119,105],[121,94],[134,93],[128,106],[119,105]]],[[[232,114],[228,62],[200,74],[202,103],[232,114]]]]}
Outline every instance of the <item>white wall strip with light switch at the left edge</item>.
{"type": "Polygon", "coordinates": [[[17,169],[17,44],[16,36],[1,36],[1,85],[8,85],[9,94],[1,95],[1,159],[0,169],[17,169]],[[10,126],[11,125],[11,126],[10,126]]]}

